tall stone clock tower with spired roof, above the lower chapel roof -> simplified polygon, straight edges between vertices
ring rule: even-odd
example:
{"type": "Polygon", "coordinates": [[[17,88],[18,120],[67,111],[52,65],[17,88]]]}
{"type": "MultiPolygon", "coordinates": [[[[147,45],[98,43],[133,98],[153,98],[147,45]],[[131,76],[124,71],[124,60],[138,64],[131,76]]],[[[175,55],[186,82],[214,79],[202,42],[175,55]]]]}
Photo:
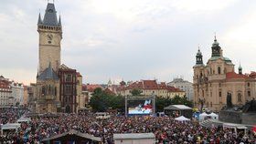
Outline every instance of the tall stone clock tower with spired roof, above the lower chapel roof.
{"type": "Polygon", "coordinates": [[[56,73],[59,72],[62,26],[60,15],[58,21],[56,13],[54,4],[48,3],[43,20],[40,14],[38,16],[39,75],[48,68],[49,64],[56,73]]]}

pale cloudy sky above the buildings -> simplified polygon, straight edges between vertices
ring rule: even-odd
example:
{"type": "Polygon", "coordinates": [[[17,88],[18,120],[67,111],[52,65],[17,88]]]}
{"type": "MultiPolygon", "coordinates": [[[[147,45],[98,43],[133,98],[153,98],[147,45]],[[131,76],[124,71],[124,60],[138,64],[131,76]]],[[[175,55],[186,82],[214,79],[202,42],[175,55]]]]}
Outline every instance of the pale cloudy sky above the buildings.
{"type": "MultiPolygon", "coordinates": [[[[37,17],[47,0],[0,0],[0,75],[36,82],[37,17]]],[[[50,3],[52,0],[49,1],[50,3]]],[[[192,81],[216,33],[224,57],[256,70],[255,0],[55,0],[61,15],[61,63],[83,83],[174,77],[192,81]]]]}

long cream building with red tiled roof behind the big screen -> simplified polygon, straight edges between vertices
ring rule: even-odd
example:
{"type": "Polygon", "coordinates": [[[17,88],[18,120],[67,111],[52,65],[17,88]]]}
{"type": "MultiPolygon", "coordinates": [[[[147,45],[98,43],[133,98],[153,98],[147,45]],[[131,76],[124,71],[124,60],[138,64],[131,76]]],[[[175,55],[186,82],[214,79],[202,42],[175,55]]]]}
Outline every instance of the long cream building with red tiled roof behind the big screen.
{"type": "Polygon", "coordinates": [[[183,97],[186,92],[176,87],[167,86],[165,82],[157,83],[156,80],[141,80],[133,82],[127,86],[120,86],[117,94],[122,96],[131,96],[133,89],[141,91],[141,95],[174,98],[175,96],[183,97]]]}

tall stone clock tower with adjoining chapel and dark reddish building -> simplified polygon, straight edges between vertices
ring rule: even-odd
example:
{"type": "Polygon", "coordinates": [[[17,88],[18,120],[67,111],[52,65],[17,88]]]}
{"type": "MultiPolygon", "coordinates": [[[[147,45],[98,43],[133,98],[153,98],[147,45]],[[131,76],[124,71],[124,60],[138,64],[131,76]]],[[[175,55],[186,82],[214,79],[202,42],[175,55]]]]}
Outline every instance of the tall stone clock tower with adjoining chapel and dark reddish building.
{"type": "Polygon", "coordinates": [[[76,69],[61,65],[62,25],[55,5],[48,3],[44,18],[38,16],[39,66],[37,73],[36,112],[77,112],[82,107],[82,78],[76,69]],[[80,88],[80,89],[78,89],[80,88]],[[81,92],[80,92],[81,93],[81,92]]]}

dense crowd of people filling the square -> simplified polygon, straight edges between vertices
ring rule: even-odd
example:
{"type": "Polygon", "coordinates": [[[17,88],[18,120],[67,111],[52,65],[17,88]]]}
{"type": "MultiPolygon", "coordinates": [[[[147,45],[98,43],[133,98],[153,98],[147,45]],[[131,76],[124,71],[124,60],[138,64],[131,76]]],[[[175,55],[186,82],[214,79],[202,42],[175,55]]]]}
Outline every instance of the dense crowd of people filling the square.
{"type": "MultiPolygon", "coordinates": [[[[1,117],[10,117],[8,122],[13,122],[17,118],[14,113],[1,113],[1,117]]],[[[22,123],[17,131],[2,134],[0,143],[39,143],[70,129],[100,137],[106,144],[113,143],[114,133],[147,132],[155,134],[156,143],[256,143],[256,137],[250,130],[245,135],[243,130],[236,133],[233,129],[220,127],[203,128],[198,122],[178,122],[171,117],[112,115],[111,118],[99,119],[92,113],[37,116],[28,123],[22,123]]]]}

